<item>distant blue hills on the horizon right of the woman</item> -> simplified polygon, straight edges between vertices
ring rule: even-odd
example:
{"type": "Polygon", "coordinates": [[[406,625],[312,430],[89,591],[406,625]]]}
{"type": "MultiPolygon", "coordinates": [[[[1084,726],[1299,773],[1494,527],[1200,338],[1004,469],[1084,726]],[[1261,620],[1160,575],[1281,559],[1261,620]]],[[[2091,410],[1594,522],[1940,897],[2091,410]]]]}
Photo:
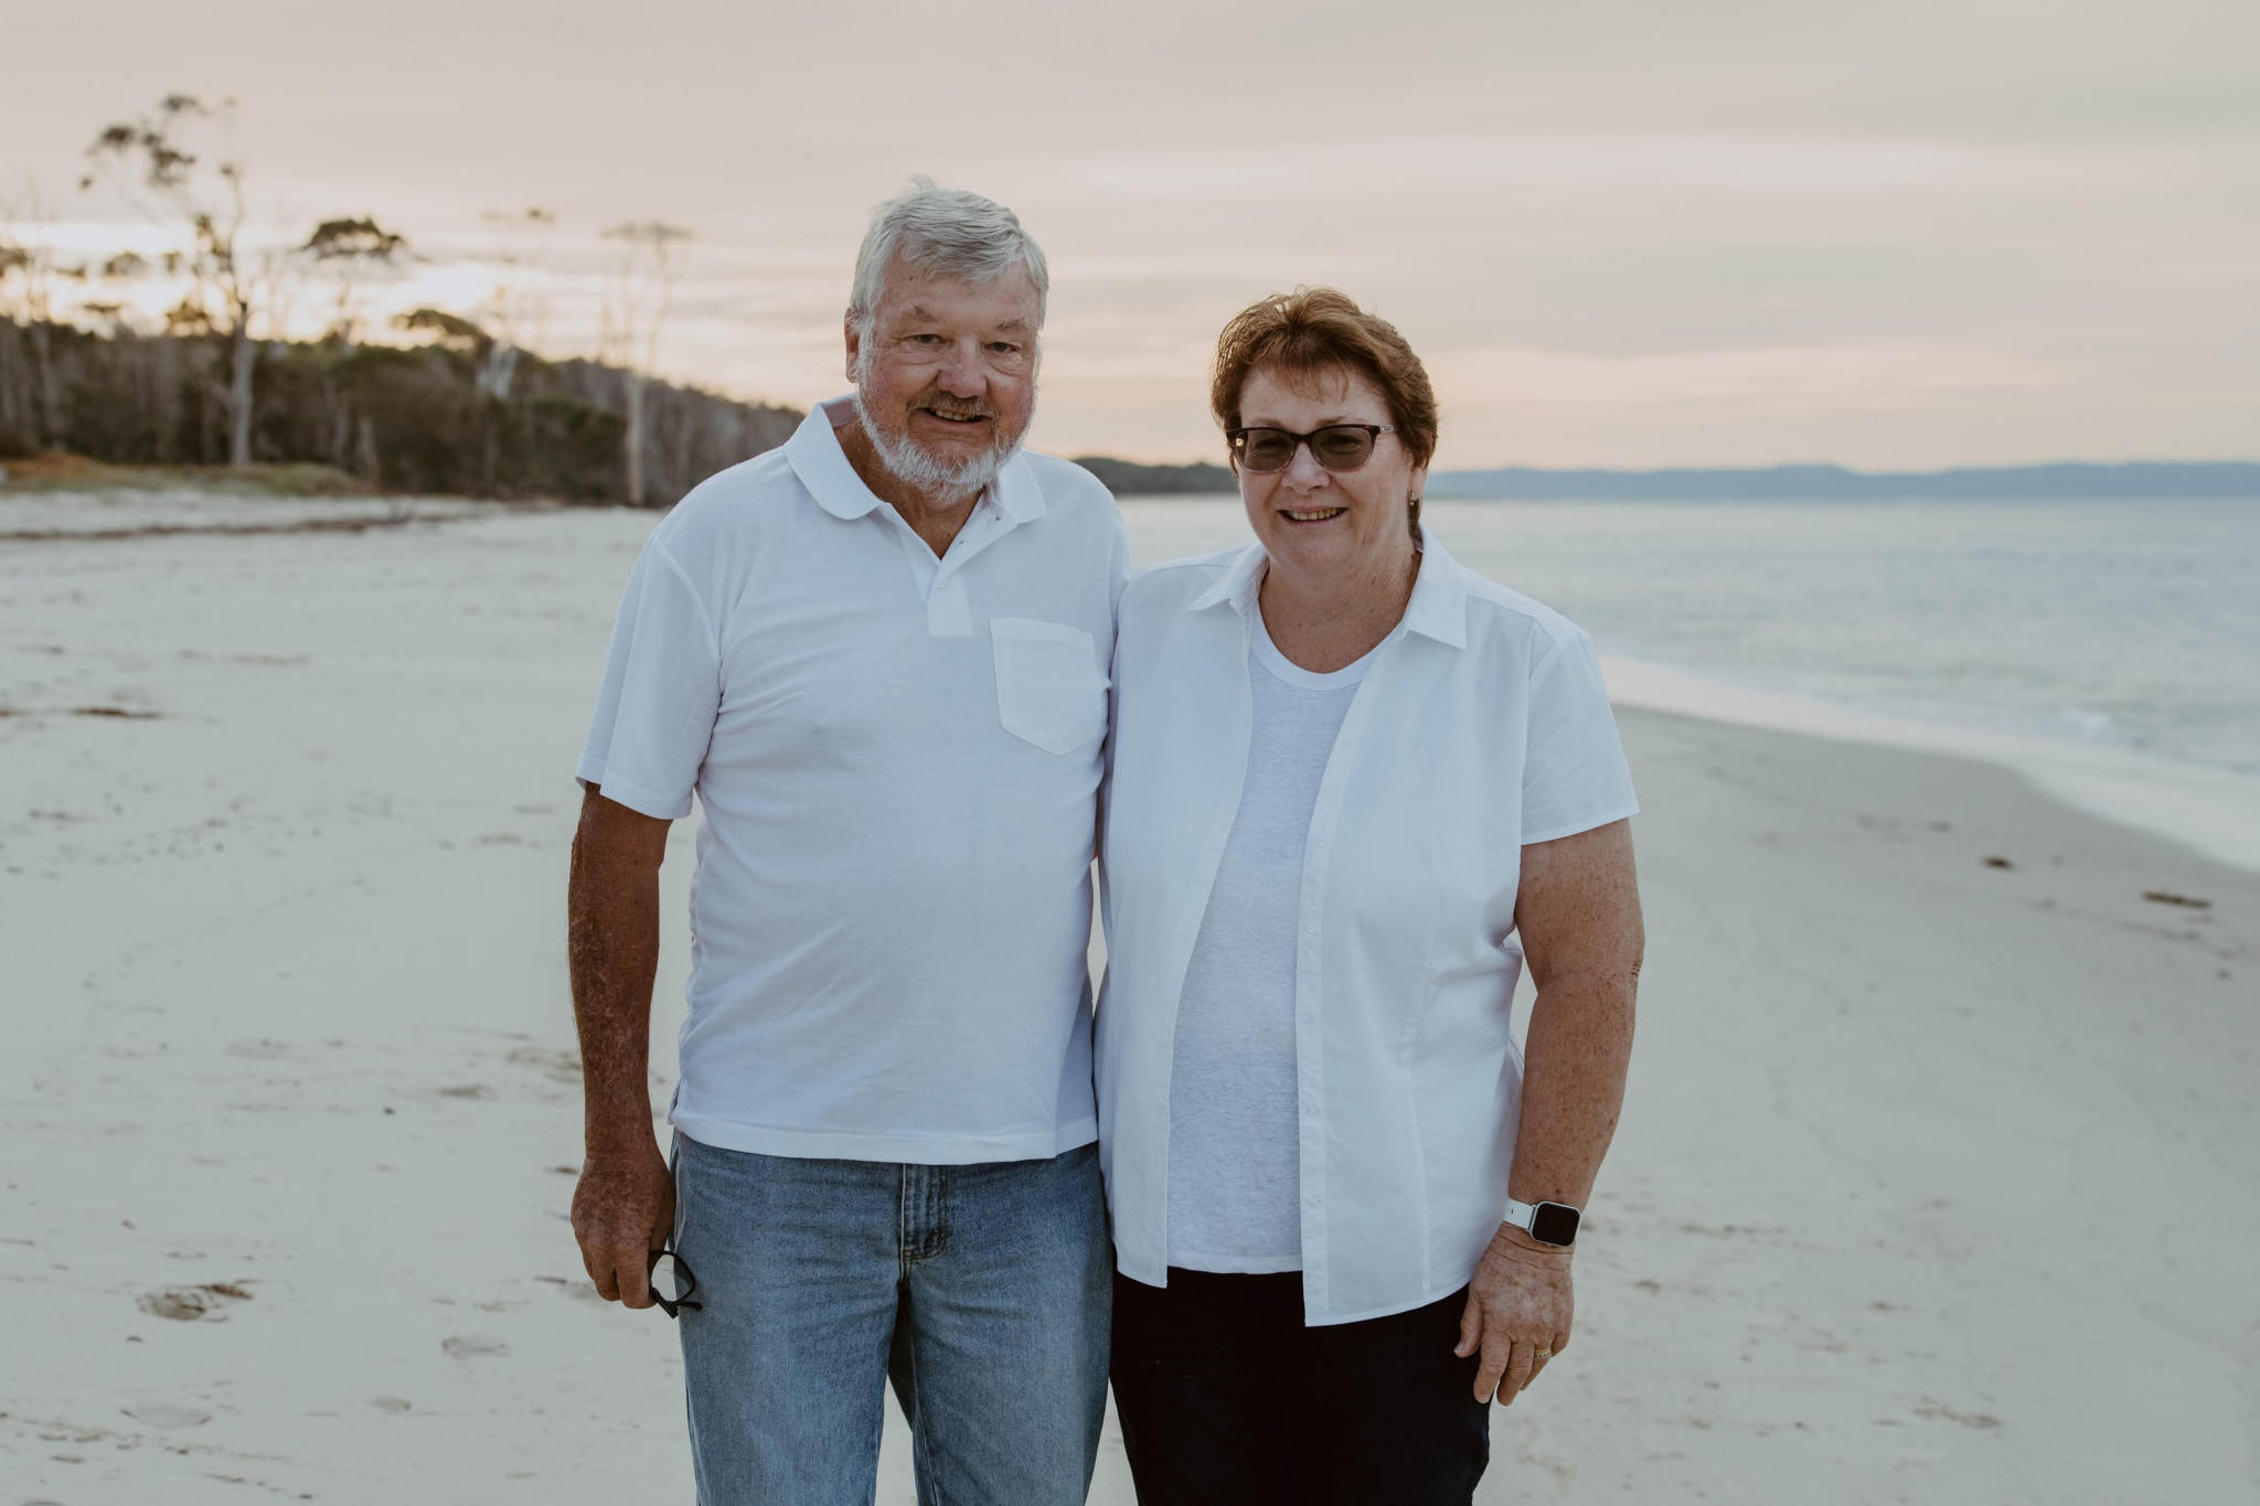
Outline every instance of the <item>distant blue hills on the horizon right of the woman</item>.
{"type": "Polygon", "coordinates": [[[2014,501],[2260,499],[2255,461],[2129,461],[1998,470],[1860,472],[1842,465],[1765,470],[1446,470],[1428,497],[1483,501],[2014,501]]]}

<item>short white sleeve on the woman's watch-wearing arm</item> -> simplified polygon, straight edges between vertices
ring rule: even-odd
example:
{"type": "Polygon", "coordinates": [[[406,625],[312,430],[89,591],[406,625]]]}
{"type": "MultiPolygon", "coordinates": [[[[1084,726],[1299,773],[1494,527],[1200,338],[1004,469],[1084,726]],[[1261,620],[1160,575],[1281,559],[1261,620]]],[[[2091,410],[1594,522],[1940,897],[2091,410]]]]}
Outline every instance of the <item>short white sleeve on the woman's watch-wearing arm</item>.
{"type": "Polygon", "coordinates": [[[1523,847],[1607,826],[1638,808],[1600,655],[1593,639],[1571,630],[1530,673],[1523,847]]]}

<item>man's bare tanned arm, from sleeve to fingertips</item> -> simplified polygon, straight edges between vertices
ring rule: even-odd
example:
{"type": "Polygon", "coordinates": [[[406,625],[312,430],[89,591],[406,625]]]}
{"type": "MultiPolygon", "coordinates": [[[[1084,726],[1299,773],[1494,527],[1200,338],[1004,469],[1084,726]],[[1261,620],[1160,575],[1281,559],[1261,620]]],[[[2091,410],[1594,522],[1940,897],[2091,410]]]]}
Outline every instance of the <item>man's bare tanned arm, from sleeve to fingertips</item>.
{"type": "Polygon", "coordinates": [[[572,1014],[581,1030],[588,1156],[572,1194],[572,1233],[597,1294],[651,1305],[649,1251],[676,1222],[676,1190],[651,1129],[651,978],[660,966],[660,860],[667,822],[581,797],[565,892],[572,1014]]]}

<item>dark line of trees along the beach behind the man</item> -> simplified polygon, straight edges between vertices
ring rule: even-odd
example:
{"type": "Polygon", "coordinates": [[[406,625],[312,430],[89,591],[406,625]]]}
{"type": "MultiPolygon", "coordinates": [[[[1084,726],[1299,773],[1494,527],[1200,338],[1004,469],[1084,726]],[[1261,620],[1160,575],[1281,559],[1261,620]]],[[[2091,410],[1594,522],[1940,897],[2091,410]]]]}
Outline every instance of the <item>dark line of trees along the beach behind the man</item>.
{"type": "MultiPolygon", "coordinates": [[[[233,124],[233,102],[167,95],[88,145],[79,190],[106,185],[165,226],[172,248],[156,260],[59,264],[11,233],[25,201],[0,201],[0,456],[314,461],[386,490],[667,506],[800,420],[649,375],[689,239],[664,221],[606,233],[603,359],[529,350],[542,289],[515,253],[497,257],[479,321],[414,309],[371,343],[364,294],[405,271],[407,237],[341,217],[303,244],[253,242],[233,124]],[[310,278],[334,289],[334,309],[319,339],[289,339],[282,309],[310,278]],[[160,327],[129,312],[136,282],[172,303],[160,327]]],[[[36,196],[32,210],[45,217],[36,196]]],[[[520,237],[556,224],[542,210],[490,219],[520,237]]]]}

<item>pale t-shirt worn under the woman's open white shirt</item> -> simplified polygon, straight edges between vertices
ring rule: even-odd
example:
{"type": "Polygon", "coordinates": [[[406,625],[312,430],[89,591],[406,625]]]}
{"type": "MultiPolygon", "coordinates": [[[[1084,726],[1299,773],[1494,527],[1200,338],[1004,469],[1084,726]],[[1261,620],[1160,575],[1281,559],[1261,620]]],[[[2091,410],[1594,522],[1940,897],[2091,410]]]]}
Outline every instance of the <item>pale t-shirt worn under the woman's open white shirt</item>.
{"type": "Polygon", "coordinates": [[[1232,838],[1177,998],[1168,1075],[1168,1262],[1299,1271],[1295,914],[1333,734],[1372,655],[1320,675],[1254,623],[1254,720],[1232,838]]]}

